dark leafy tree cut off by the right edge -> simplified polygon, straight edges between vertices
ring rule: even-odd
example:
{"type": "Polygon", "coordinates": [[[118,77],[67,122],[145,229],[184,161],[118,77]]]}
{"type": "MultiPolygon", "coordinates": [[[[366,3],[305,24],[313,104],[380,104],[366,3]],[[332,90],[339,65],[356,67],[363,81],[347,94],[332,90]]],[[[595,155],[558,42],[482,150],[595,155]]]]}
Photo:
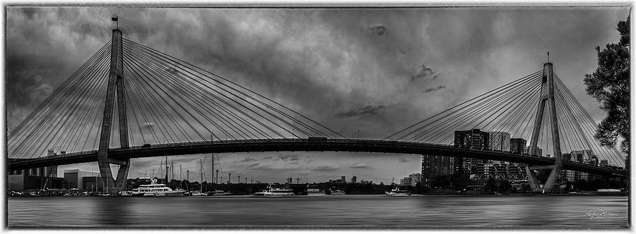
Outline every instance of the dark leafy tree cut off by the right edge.
{"type": "Polygon", "coordinates": [[[585,91],[601,103],[607,113],[594,137],[602,145],[613,147],[618,138],[623,152],[630,147],[630,18],[618,22],[618,44],[595,47],[599,67],[586,74],[585,91]]]}

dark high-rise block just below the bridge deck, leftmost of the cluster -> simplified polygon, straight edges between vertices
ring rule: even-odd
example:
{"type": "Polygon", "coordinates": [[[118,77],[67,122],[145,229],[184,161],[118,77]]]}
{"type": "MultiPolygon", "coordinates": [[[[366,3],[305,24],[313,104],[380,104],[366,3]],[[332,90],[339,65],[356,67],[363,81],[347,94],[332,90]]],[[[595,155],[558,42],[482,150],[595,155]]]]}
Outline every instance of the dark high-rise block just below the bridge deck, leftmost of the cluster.
{"type": "Polygon", "coordinates": [[[422,156],[422,184],[430,187],[437,176],[451,175],[454,171],[454,157],[452,156],[422,156]]]}

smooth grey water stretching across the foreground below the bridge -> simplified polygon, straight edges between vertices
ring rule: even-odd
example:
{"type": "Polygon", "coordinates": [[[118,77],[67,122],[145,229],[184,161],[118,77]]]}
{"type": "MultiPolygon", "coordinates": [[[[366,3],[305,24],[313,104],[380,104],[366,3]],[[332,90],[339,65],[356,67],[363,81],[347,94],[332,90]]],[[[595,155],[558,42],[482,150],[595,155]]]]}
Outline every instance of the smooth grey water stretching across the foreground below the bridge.
{"type": "Polygon", "coordinates": [[[8,226],[625,228],[628,197],[11,197],[8,226]],[[596,209],[616,216],[585,215],[596,209]]]}

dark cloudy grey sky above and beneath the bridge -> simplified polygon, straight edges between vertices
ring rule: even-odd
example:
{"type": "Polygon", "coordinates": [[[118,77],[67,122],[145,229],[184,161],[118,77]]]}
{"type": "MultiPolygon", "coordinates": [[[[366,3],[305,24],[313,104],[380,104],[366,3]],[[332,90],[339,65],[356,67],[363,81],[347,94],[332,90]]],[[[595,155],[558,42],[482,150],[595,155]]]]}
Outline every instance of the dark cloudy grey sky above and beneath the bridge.
{"type": "MultiPolygon", "coordinates": [[[[360,130],[361,138],[381,139],[529,75],[542,68],[546,51],[555,72],[599,121],[604,113],[585,93],[583,75],[596,68],[595,46],[618,41],[616,23],[628,13],[628,7],[8,7],[7,127],[16,128],[110,40],[114,15],[127,39],[276,98],[348,137],[360,130]]],[[[209,164],[209,155],[169,160],[185,173],[199,171],[201,158],[209,164]]],[[[218,159],[232,178],[268,182],[356,175],[390,183],[420,171],[420,156],[410,155],[283,152],[218,159]]],[[[129,177],[151,176],[159,161],[133,159],[129,177]]],[[[71,168],[98,170],[95,163],[59,170],[71,168]]]]}

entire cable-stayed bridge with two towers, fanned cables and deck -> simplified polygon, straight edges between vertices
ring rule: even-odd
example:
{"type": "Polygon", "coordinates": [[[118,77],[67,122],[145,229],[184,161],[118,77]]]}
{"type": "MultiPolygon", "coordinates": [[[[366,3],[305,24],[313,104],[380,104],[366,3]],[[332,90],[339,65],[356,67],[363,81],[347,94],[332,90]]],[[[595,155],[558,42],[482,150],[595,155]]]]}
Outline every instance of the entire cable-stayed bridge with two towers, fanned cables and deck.
{"type": "Polygon", "coordinates": [[[97,161],[121,190],[130,159],[203,153],[334,151],[455,156],[526,164],[534,191],[572,170],[624,177],[596,123],[553,64],[383,140],[353,140],[186,61],[122,37],[107,42],[8,136],[10,171],[97,161]],[[466,131],[469,130],[469,131],[466,131]],[[483,130],[483,131],[482,131],[483,130]],[[488,131],[488,133],[484,132],[488,131]],[[505,139],[507,138],[507,139],[505,139]],[[505,143],[522,142],[522,144],[505,143]],[[60,154],[47,154],[49,149],[60,154]],[[118,164],[113,178],[110,164],[118,164]],[[545,183],[536,170],[550,170],[545,183]]]}

